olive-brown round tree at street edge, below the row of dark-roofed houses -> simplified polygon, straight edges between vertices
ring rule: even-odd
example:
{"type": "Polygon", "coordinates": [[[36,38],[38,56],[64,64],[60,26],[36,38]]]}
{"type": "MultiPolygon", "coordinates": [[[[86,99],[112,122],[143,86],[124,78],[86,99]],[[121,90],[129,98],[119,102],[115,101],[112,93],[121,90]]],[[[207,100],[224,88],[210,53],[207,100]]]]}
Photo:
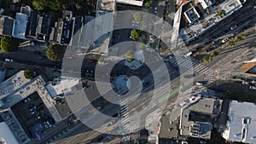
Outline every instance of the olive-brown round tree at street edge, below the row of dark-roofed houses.
{"type": "Polygon", "coordinates": [[[49,60],[61,61],[65,54],[66,46],[59,44],[49,44],[48,48],[45,50],[45,55],[49,60]]]}

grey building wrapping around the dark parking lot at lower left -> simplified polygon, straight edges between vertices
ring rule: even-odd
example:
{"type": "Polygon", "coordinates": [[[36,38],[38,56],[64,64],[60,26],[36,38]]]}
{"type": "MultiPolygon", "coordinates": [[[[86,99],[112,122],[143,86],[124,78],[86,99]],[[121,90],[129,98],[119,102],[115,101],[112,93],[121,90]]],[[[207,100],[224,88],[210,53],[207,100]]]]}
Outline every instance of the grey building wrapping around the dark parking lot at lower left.
{"type": "MultiPolygon", "coordinates": [[[[13,108],[17,107],[18,104],[25,105],[27,97],[34,95],[34,93],[37,93],[40,101],[42,101],[44,107],[49,111],[49,116],[54,118],[56,123],[63,120],[55,107],[55,101],[44,88],[45,84],[46,82],[43,76],[26,79],[24,71],[17,72],[14,76],[0,84],[0,115],[20,144],[27,143],[31,139],[26,133],[24,125],[21,126],[20,118],[16,115],[13,108]]],[[[30,112],[29,109],[27,111],[30,112]]],[[[25,115],[25,113],[22,115],[25,115]]]]}

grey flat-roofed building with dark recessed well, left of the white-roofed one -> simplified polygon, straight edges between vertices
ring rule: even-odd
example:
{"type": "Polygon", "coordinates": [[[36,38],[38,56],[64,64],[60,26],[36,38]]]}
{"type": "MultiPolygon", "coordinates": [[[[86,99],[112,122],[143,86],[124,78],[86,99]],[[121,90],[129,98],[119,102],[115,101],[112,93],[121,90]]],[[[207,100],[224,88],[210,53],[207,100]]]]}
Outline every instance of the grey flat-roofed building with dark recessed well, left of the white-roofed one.
{"type": "Polygon", "coordinates": [[[179,135],[210,139],[214,119],[217,119],[222,101],[213,98],[195,97],[181,109],[179,135]]]}

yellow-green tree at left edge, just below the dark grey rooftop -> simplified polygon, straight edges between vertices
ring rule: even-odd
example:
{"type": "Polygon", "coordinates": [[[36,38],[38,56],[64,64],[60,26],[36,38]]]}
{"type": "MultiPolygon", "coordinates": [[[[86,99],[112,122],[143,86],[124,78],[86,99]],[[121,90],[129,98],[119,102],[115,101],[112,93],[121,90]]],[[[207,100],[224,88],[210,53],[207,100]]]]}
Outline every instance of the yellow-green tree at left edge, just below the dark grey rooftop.
{"type": "Polygon", "coordinates": [[[19,40],[14,37],[2,37],[0,48],[4,53],[11,53],[18,49],[19,40]]]}

